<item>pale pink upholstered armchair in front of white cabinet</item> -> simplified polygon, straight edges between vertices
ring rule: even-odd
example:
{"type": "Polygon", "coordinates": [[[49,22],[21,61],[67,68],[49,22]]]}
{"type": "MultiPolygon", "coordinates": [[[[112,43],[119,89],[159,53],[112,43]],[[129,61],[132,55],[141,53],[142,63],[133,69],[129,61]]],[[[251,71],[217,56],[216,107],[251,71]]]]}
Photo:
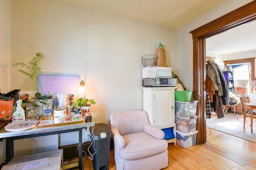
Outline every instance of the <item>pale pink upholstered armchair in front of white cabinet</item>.
{"type": "Polygon", "coordinates": [[[141,110],[110,115],[117,170],[160,170],[168,166],[164,132],[153,127],[141,110]]]}

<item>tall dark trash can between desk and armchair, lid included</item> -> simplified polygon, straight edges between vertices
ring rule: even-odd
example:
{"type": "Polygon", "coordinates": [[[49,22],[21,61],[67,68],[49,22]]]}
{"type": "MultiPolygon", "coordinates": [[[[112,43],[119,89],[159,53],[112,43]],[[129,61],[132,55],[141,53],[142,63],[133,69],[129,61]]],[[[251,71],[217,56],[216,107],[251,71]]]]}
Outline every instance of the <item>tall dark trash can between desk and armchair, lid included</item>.
{"type": "Polygon", "coordinates": [[[92,166],[94,170],[108,170],[110,150],[110,127],[105,123],[97,123],[90,127],[92,135],[92,166]]]}

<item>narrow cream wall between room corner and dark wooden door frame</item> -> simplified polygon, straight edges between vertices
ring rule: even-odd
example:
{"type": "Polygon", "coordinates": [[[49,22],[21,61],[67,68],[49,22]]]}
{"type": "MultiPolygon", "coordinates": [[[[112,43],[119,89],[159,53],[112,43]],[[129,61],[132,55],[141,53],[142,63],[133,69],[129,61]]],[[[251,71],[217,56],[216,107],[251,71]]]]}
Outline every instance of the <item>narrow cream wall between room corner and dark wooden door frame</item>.
{"type": "Polygon", "coordinates": [[[193,89],[193,40],[190,31],[231,12],[252,0],[228,0],[178,29],[178,76],[193,89]]]}

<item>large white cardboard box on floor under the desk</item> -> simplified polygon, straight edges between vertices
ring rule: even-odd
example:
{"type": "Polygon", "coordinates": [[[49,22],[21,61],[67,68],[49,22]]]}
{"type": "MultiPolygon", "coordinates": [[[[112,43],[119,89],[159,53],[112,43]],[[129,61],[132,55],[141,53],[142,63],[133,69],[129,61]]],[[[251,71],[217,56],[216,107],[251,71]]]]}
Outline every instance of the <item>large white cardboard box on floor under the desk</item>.
{"type": "Polygon", "coordinates": [[[63,149],[12,158],[2,170],[62,170],[63,149]]]}

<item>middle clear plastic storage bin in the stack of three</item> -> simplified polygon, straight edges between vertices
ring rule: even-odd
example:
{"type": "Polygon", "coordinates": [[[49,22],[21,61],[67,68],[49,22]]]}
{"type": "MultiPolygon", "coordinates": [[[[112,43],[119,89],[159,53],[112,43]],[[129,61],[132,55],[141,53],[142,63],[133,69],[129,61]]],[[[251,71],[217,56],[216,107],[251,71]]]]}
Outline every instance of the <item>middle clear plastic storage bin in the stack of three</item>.
{"type": "Polygon", "coordinates": [[[198,116],[180,117],[175,115],[175,123],[177,125],[177,131],[180,131],[182,133],[196,131],[197,118],[198,116]]]}

